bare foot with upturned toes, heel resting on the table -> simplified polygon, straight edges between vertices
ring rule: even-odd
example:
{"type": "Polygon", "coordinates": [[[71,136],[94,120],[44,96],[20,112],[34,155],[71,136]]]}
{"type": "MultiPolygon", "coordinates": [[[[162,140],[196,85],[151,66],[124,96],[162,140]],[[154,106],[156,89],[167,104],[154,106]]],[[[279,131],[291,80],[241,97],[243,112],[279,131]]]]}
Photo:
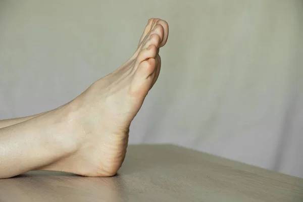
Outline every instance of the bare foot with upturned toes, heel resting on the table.
{"type": "Polygon", "coordinates": [[[159,48],[167,38],[168,24],[150,19],[134,55],[62,108],[69,109],[66,133],[77,139],[77,148],[40,170],[92,177],[116,174],[126,154],[130,123],[159,76],[159,48]]]}

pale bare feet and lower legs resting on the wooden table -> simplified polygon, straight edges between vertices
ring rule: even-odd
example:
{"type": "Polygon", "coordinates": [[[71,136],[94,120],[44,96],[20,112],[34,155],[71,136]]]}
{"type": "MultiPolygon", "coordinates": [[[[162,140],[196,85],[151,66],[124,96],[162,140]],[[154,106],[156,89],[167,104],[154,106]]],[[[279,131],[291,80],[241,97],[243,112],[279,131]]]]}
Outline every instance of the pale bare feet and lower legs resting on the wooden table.
{"type": "Polygon", "coordinates": [[[134,55],[71,102],[49,112],[0,121],[0,178],[32,170],[90,177],[117,173],[129,126],[158,79],[168,24],[150,19],[134,55]]]}

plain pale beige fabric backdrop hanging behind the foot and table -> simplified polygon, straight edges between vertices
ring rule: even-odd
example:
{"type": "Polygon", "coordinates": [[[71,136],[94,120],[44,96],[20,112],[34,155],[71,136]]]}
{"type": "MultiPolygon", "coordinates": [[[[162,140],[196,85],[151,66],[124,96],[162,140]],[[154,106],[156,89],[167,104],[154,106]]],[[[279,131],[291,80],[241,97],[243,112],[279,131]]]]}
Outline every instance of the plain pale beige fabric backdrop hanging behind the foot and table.
{"type": "Polygon", "coordinates": [[[170,24],[130,143],[171,142],[303,177],[302,1],[0,1],[0,119],[56,108],[170,24]]]}

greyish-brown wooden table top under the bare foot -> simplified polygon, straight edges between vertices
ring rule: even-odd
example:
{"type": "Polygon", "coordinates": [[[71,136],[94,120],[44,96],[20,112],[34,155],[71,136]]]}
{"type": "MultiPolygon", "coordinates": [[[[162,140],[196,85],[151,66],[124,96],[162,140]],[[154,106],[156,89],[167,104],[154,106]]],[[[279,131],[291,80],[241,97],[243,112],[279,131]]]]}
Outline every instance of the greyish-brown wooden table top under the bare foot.
{"type": "Polygon", "coordinates": [[[0,201],[303,201],[303,179],[175,145],[130,145],[118,175],[33,171],[0,180],[0,201]]]}

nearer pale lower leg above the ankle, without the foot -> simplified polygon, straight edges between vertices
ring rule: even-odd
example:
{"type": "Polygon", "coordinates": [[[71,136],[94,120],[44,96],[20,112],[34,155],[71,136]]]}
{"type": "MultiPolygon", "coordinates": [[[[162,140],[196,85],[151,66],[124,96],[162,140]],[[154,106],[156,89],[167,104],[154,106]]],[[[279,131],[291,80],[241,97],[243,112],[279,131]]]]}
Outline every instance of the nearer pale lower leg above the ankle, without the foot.
{"type": "Polygon", "coordinates": [[[0,178],[39,169],[73,153],[76,141],[65,132],[68,113],[62,113],[63,109],[51,111],[0,129],[0,178]]]}

